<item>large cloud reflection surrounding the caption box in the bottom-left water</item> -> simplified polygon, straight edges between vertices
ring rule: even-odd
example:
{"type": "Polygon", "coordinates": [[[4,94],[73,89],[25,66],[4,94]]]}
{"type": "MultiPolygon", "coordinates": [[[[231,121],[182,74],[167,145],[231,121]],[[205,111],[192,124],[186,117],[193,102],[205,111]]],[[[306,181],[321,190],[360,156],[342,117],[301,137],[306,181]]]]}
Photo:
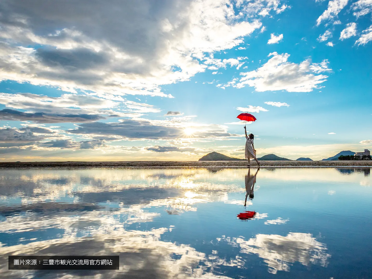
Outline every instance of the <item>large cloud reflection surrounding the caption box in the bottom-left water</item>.
{"type": "Polygon", "coordinates": [[[101,278],[228,278],[206,272],[199,263],[206,260],[204,253],[194,248],[161,241],[167,228],[152,231],[115,230],[110,234],[98,231],[93,237],[77,238],[65,235],[62,239],[45,240],[2,247],[1,272],[6,278],[86,278],[100,274],[101,278]],[[18,254],[73,255],[79,251],[84,255],[118,254],[120,270],[7,270],[7,256],[18,254]],[[179,257],[174,257],[179,255],[179,257]],[[87,274],[90,273],[90,274],[87,274]]]}

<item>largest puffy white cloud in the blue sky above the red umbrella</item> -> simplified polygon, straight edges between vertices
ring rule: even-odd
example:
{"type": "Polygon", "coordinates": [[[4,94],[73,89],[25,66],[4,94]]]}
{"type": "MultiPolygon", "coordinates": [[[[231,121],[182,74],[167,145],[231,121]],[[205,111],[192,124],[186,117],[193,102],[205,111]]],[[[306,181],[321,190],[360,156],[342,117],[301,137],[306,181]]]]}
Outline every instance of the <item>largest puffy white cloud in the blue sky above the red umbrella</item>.
{"type": "Polygon", "coordinates": [[[287,62],[288,53],[273,52],[268,56],[273,57],[257,70],[240,73],[244,77],[234,87],[243,88],[248,85],[255,87],[259,92],[275,90],[311,92],[328,77],[319,73],[331,71],[327,60],[311,63],[311,60],[307,59],[296,64],[287,62]]]}

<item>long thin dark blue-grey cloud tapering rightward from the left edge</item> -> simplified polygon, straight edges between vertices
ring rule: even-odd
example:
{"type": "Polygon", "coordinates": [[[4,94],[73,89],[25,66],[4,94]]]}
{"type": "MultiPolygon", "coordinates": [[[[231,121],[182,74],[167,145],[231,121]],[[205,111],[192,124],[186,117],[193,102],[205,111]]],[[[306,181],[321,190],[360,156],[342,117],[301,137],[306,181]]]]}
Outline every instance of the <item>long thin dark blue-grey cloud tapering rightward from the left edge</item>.
{"type": "Polygon", "coordinates": [[[43,112],[28,113],[20,112],[14,109],[3,109],[0,110],[0,119],[34,121],[37,123],[82,123],[105,119],[105,117],[96,114],[48,114],[43,112]]]}

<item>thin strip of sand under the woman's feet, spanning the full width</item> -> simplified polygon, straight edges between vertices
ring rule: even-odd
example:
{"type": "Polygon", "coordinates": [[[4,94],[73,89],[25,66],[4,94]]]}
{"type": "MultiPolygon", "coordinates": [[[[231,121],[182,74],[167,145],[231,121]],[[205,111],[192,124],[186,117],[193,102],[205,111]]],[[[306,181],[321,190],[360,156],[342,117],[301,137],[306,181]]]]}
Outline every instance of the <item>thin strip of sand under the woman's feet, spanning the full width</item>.
{"type": "MultiPolygon", "coordinates": [[[[247,167],[247,161],[1,162],[0,167],[247,167]]],[[[251,161],[251,167],[257,167],[251,161]]],[[[261,167],[372,167],[360,161],[260,161],[261,167]]]]}

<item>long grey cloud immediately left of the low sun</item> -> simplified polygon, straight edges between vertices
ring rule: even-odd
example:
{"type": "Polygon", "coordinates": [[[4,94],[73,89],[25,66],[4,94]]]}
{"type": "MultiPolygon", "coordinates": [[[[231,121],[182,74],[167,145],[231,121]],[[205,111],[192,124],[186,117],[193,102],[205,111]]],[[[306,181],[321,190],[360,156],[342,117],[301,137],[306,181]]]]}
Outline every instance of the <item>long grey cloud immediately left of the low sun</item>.
{"type": "Polygon", "coordinates": [[[150,121],[134,119],[123,119],[118,123],[84,123],[68,132],[71,134],[118,135],[138,140],[172,139],[179,137],[181,133],[179,128],[152,125],[150,121]]]}

